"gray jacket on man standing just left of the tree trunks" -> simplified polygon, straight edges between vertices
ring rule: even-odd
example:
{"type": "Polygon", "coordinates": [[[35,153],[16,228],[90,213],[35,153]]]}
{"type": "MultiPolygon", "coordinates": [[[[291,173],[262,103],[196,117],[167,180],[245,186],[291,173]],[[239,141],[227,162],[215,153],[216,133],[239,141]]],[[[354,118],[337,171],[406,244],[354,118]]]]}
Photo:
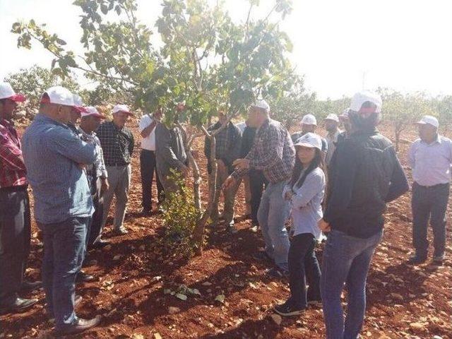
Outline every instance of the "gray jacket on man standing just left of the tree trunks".
{"type": "Polygon", "coordinates": [[[165,178],[169,169],[181,169],[186,165],[186,153],[182,131],[174,126],[168,129],[164,124],[155,126],[155,160],[157,172],[165,178]]]}

